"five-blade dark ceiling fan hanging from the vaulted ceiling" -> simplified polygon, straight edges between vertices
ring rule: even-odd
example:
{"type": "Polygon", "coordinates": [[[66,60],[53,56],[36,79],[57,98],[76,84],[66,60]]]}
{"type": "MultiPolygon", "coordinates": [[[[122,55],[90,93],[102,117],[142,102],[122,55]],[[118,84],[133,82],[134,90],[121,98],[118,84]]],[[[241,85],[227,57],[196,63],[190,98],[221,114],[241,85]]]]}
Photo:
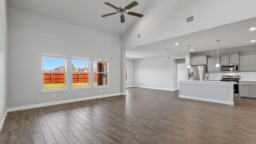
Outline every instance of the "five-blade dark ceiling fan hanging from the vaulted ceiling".
{"type": "Polygon", "coordinates": [[[142,18],[143,14],[138,14],[138,13],[135,13],[135,12],[130,12],[130,8],[133,8],[134,6],[137,6],[138,5],[138,2],[134,1],[130,4],[128,4],[128,6],[124,7],[124,6],[119,6],[119,7],[116,7],[108,2],[104,2],[104,4],[108,5],[108,6],[111,6],[112,8],[116,9],[117,12],[113,12],[113,13],[110,13],[110,14],[105,14],[103,15],[102,17],[105,17],[105,16],[110,16],[112,14],[117,14],[117,13],[120,13],[120,18],[121,18],[121,23],[124,22],[124,14],[129,14],[129,15],[132,15],[132,16],[138,16],[140,18],[142,18]]]}

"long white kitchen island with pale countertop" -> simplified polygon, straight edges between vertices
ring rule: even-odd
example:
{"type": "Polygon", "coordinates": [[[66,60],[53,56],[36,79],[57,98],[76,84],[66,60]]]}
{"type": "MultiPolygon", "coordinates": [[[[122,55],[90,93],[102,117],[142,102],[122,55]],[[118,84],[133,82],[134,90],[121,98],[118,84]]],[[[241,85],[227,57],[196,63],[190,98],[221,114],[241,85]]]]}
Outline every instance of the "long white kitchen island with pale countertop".
{"type": "Polygon", "coordinates": [[[179,80],[179,98],[234,105],[234,82],[179,80]]]}

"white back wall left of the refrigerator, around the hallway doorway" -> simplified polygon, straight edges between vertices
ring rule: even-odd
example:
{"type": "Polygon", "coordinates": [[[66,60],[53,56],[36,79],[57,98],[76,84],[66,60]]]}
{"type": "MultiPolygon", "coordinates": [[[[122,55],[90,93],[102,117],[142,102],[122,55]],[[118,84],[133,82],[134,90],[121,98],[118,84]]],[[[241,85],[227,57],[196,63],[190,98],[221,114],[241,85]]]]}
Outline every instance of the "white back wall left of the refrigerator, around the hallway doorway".
{"type": "MultiPolygon", "coordinates": [[[[134,85],[161,90],[176,89],[176,60],[185,58],[188,66],[188,54],[173,54],[134,60],[134,85]]],[[[186,76],[186,79],[188,77],[186,76]]]]}

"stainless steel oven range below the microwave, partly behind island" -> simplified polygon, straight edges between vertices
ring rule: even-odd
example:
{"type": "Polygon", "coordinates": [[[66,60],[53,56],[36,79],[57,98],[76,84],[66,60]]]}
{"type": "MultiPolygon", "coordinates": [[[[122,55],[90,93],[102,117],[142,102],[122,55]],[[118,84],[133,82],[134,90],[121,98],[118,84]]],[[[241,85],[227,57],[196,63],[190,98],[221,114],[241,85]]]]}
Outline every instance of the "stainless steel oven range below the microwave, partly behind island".
{"type": "Polygon", "coordinates": [[[222,79],[220,81],[225,81],[225,82],[235,82],[234,83],[234,98],[239,98],[239,80],[240,76],[228,76],[228,75],[223,75],[222,79]]]}

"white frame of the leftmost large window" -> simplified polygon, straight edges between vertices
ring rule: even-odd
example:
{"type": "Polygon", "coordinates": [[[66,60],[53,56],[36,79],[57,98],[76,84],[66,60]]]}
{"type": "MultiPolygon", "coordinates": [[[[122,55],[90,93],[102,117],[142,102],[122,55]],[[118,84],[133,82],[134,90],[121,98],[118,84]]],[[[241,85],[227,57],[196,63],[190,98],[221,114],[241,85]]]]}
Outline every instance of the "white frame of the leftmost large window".
{"type": "Polygon", "coordinates": [[[42,90],[41,90],[41,93],[68,91],[67,61],[68,61],[68,56],[67,55],[42,53],[42,90]],[[52,73],[64,73],[65,74],[65,88],[56,88],[56,89],[44,90],[44,74],[49,73],[47,71],[44,72],[44,58],[56,58],[56,59],[65,60],[65,72],[52,72],[52,73]]]}

